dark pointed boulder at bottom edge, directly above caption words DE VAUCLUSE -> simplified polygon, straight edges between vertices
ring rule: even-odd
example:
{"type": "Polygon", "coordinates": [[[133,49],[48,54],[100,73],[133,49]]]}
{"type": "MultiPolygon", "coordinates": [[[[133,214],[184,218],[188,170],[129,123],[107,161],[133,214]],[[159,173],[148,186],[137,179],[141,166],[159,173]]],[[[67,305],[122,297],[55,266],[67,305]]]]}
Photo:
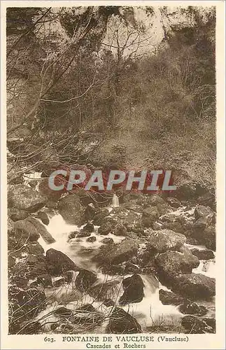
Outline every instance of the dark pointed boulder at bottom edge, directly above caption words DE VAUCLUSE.
{"type": "Polygon", "coordinates": [[[141,333],[141,325],[136,321],[136,318],[126,311],[120,309],[120,307],[115,307],[109,318],[106,332],[113,334],[141,333]]]}

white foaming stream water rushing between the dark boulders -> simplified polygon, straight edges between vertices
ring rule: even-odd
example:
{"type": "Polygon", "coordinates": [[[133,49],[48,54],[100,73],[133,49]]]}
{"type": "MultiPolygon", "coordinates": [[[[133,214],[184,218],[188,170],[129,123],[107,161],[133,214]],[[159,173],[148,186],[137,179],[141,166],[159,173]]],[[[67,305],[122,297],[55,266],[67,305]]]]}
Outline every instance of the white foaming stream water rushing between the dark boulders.
{"type": "MultiPolygon", "coordinates": [[[[117,203],[115,203],[117,205],[117,203]]],[[[110,211],[110,210],[109,210],[110,211]]],[[[99,248],[102,243],[101,240],[106,236],[101,236],[97,234],[97,230],[99,226],[94,227],[94,232],[92,232],[91,237],[96,237],[96,241],[88,242],[87,237],[80,237],[70,239],[69,234],[73,231],[80,231],[81,228],[78,228],[76,225],[68,225],[65,223],[64,219],[60,214],[55,214],[52,217],[50,216],[50,223],[45,225],[45,228],[55,239],[55,242],[52,244],[46,244],[42,238],[39,239],[40,244],[43,246],[45,252],[50,248],[55,248],[66,255],[75,262],[78,267],[83,269],[88,269],[92,272],[97,273],[97,283],[102,283],[106,281],[110,281],[113,283],[115,281],[117,288],[115,288],[114,300],[116,300],[116,304],[123,293],[122,289],[122,279],[131,276],[132,274],[128,274],[127,276],[107,276],[103,274],[100,269],[92,262],[92,256],[94,255],[97,248],[99,248]]],[[[122,239],[125,237],[115,236],[108,234],[107,237],[111,237],[114,243],[120,243],[122,239]]],[[[190,244],[186,244],[188,248],[199,248],[204,249],[204,246],[191,246],[190,244]]],[[[206,274],[206,276],[215,277],[215,262],[213,260],[209,260],[208,262],[204,262],[204,260],[200,261],[199,267],[193,269],[192,272],[206,274]]],[[[74,284],[76,279],[76,275],[78,272],[74,272],[73,281],[65,286],[59,286],[58,288],[46,288],[45,295],[50,300],[50,304],[47,309],[43,311],[40,316],[48,314],[52,309],[56,308],[57,305],[63,304],[69,309],[76,309],[78,305],[82,305],[84,303],[92,304],[96,309],[99,309],[102,313],[108,313],[108,307],[104,307],[102,302],[97,302],[90,295],[80,295],[80,292],[77,290],[74,284]],[[54,298],[51,298],[53,295],[54,298]]],[[[121,306],[125,311],[129,312],[132,316],[136,318],[136,320],[141,324],[143,329],[146,329],[148,326],[158,325],[164,322],[164,324],[169,325],[178,325],[181,317],[185,316],[178,311],[178,307],[174,305],[164,305],[160,301],[159,298],[159,290],[162,288],[164,290],[169,290],[167,287],[162,286],[157,279],[155,279],[152,275],[144,275],[141,274],[144,283],[144,297],[141,302],[134,302],[131,304],[127,304],[125,306],[121,306]]],[[[52,279],[55,281],[56,279],[52,279]]],[[[111,297],[112,295],[110,295],[111,297]]],[[[202,302],[199,304],[205,305],[209,312],[206,315],[207,317],[214,316],[214,305],[213,302],[202,302]]],[[[46,320],[45,320],[46,322],[46,320]]],[[[55,322],[55,317],[50,316],[48,318],[48,325],[45,326],[45,331],[50,330],[50,323],[55,322]]],[[[102,325],[101,329],[95,329],[95,332],[104,332],[104,327],[106,325],[102,325]]],[[[148,328],[147,328],[148,329],[148,328]]]]}

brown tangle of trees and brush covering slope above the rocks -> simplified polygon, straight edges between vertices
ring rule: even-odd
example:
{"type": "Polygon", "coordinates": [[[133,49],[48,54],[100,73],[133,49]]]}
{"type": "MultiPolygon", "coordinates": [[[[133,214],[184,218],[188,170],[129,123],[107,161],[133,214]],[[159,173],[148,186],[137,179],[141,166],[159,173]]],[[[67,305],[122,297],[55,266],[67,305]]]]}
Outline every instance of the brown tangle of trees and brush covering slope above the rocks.
{"type": "MultiPolygon", "coordinates": [[[[153,9],[146,11],[151,18],[153,9]]],[[[193,25],[167,32],[154,51],[139,55],[137,47],[126,55],[132,30],[143,30],[132,8],[9,8],[10,137],[34,143],[35,136],[61,157],[77,157],[83,132],[87,144],[90,137],[101,140],[88,159],[94,165],[110,158],[127,167],[181,169],[214,188],[216,18],[213,10],[205,21],[197,8],[184,11],[193,25]],[[119,27],[127,27],[116,55],[101,45],[109,18],[118,25],[116,39],[119,27]]]]}

